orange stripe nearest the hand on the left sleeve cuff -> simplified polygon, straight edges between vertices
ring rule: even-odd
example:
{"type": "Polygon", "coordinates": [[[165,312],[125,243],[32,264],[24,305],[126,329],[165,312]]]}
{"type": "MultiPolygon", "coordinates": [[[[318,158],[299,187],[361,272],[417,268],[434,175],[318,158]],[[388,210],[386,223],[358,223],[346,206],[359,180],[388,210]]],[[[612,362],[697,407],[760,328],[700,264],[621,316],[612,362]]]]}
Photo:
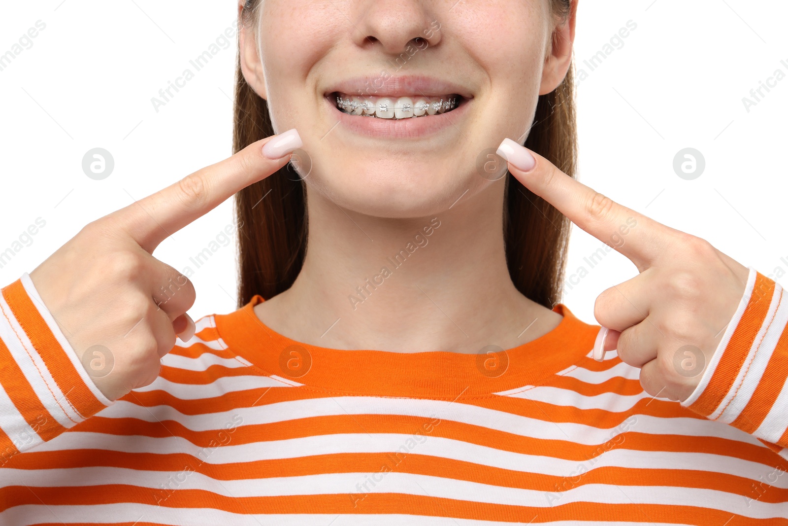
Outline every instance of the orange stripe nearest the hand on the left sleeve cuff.
{"type": "MultiPolygon", "coordinates": [[[[58,339],[54,337],[46,321],[41,317],[37,308],[24,290],[20,279],[2,289],[3,296],[13,312],[17,322],[28,335],[36,352],[39,353],[47,369],[60,387],[66,400],[72,405],[73,410],[83,417],[91,416],[105,407],[83,382],[79,372],[76,371],[65,350],[58,339]]],[[[54,398],[57,400],[58,396],[54,398]]],[[[65,408],[64,408],[65,412],[65,408]]],[[[66,414],[68,414],[66,412],[66,414]]],[[[76,423],[76,421],[75,421],[76,423]]]]}

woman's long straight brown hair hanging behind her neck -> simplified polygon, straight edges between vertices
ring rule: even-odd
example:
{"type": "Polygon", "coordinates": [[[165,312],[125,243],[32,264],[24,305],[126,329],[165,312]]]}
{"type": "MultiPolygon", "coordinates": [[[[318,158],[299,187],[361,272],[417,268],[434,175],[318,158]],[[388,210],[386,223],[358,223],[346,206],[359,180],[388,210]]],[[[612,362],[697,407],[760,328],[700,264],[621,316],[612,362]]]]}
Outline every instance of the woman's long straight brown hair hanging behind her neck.
{"type": "MultiPolygon", "coordinates": [[[[247,0],[243,24],[257,20],[261,2],[247,0]]],[[[549,2],[559,20],[571,12],[571,0],[549,2]]],[[[266,100],[243,78],[240,54],[233,112],[234,152],[274,134],[266,100]]],[[[525,146],[574,177],[577,142],[572,64],[558,88],[539,95],[525,146]]],[[[511,281],[525,297],[553,308],[561,297],[571,223],[511,173],[505,177],[504,243],[511,281]]],[[[290,163],[236,194],[239,308],[255,294],[267,300],[295,282],[307,252],[306,195],[305,183],[290,163]]]]}

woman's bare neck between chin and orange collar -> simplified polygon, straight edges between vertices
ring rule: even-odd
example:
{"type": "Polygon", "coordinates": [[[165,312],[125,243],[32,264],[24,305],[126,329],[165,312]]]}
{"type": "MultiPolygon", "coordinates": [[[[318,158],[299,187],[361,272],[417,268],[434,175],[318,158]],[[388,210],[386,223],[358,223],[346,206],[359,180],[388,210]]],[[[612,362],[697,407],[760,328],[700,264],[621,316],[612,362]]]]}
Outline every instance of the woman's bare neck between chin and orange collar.
{"type": "Polygon", "coordinates": [[[333,349],[478,353],[537,338],[561,316],[511,282],[503,190],[422,218],[361,215],[309,191],[303,268],[255,311],[289,338],[333,349]]]}

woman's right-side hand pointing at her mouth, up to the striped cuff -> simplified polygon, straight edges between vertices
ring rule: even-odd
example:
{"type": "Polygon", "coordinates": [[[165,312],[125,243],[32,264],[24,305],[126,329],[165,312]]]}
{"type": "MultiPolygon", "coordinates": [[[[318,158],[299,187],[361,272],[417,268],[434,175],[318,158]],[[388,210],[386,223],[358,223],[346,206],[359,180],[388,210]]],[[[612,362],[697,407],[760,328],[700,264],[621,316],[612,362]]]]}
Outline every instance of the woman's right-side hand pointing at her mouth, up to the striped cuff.
{"type": "Polygon", "coordinates": [[[603,328],[594,357],[617,349],[626,364],[640,367],[648,394],[686,400],[742,300],[749,269],[708,241],[582,185],[513,140],[504,140],[498,154],[522,185],[640,273],[597,297],[594,317],[603,328]]]}

